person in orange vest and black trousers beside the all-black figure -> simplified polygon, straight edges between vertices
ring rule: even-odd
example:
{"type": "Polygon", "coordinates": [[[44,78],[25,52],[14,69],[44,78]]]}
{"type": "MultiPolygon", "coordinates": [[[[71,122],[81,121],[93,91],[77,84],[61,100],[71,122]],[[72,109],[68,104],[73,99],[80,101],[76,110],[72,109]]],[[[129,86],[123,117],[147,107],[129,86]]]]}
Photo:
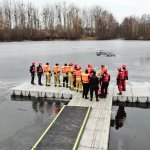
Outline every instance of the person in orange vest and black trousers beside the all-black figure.
{"type": "Polygon", "coordinates": [[[90,76],[88,70],[85,70],[85,73],[81,74],[82,77],[82,83],[83,83],[83,93],[82,98],[85,97],[85,99],[88,99],[87,95],[89,92],[89,82],[90,82],[90,76]]]}

